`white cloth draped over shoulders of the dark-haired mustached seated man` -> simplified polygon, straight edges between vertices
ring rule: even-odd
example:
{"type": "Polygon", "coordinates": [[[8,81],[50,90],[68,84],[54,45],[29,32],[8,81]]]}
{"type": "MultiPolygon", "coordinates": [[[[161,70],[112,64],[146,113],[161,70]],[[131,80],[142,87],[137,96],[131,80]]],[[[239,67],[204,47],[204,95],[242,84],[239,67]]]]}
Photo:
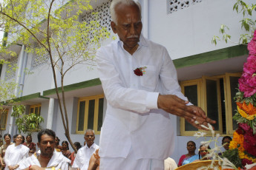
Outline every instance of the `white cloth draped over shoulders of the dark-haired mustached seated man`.
{"type": "MultiPolygon", "coordinates": [[[[68,163],[71,163],[71,160],[65,157],[61,152],[53,152],[53,156],[50,158],[49,163],[45,169],[50,170],[52,167],[55,167],[56,170],[68,170],[68,163]]],[[[27,169],[30,165],[41,167],[39,160],[35,157],[34,154],[32,154],[30,157],[27,157],[27,159],[22,160],[17,170],[27,169]]]]}

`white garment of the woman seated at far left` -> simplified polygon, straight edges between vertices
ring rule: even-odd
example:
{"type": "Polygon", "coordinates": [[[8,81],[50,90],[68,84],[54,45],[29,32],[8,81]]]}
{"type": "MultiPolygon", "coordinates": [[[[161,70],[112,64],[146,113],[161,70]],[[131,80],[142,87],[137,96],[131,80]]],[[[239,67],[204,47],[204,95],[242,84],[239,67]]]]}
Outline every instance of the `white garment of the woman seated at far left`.
{"type": "Polygon", "coordinates": [[[15,144],[8,146],[4,156],[5,170],[9,170],[8,166],[19,165],[24,158],[28,157],[29,151],[30,149],[22,144],[19,146],[15,146],[15,144]]]}

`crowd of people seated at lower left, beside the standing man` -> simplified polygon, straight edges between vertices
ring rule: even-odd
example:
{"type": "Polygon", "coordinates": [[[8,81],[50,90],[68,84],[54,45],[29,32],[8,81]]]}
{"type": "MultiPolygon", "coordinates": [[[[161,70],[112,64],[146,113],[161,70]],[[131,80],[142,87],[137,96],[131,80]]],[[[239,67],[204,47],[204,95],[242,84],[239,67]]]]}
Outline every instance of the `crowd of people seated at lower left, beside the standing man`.
{"type": "Polygon", "coordinates": [[[27,135],[26,141],[23,135],[14,135],[12,143],[11,135],[5,134],[5,143],[0,147],[0,166],[1,169],[6,170],[33,170],[39,169],[39,167],[43,167],[44,169],[52,169],[55,167],[61,170],[88,169],[91,155],[99,148],[99,146],[96,146],[94,143],[94,139],[93,130],[88,129],[85,132],[84,146],[81,146],[79,142],[73,143],[80,158],[76,160],[76,152],[70,152],[68,141],[62,141],[62,146],[60,146],[59,137],[56,137],[55,132],[50,129],[42,129],[42,131],[39,132],[37,143],[39,150],[37,152],[36,143],[32,142],[31,135],[27,135]],[[91,151],[89,154],[87,152],[79,152],[79,149],[82,148],[85,148],[85,150],[91,148],[91,151]],[[84,156],[88,157],[88,161],[84,159],[84,156]],[[76,166],[72,168],[73,163],[76,166]]]}

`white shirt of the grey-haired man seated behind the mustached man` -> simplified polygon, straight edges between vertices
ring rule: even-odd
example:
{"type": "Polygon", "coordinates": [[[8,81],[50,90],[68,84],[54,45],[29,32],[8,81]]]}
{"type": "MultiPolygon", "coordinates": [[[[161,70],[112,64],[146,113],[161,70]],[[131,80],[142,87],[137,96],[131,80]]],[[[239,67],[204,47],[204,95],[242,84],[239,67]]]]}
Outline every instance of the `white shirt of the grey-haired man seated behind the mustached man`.
{"type": "Polygon", "coordinates": [[[90,148],[88,148],[87,144],[85,146],[82,146],[82,148],[80,148],[76,154],[76,158],[73,161],[72,168],[88,170],[91,155],[96,152],[96,149],[99,149],[99,146],[97,146],[95,143],[93,143],[90,148]]]}

